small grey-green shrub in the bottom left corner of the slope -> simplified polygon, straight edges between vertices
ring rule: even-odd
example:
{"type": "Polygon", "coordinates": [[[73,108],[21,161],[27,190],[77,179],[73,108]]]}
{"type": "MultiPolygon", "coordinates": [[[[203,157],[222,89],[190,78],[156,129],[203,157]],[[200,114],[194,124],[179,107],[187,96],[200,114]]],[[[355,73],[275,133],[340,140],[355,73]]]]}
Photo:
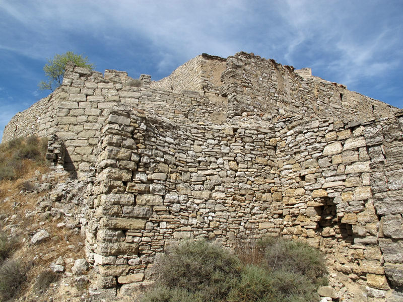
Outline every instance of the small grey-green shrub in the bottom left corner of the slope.
{"type": "Polygon", "coordinates": [[[26,278],[26,266],[20,261],[7,259],[0,267],[0,300],[13,298],[26,278]]]}

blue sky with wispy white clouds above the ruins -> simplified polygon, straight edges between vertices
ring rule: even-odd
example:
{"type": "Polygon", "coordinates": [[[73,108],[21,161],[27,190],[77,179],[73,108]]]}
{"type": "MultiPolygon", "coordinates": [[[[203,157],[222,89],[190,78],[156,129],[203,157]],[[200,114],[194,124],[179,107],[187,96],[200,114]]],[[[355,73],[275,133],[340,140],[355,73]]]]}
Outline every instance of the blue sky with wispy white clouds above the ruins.
{"type": "Polygon", "coordinates": [[[0,138],[66,51],[153,80],[203,52],[253,52],[403,107],[400,0],[0,0],[0,138]]]}

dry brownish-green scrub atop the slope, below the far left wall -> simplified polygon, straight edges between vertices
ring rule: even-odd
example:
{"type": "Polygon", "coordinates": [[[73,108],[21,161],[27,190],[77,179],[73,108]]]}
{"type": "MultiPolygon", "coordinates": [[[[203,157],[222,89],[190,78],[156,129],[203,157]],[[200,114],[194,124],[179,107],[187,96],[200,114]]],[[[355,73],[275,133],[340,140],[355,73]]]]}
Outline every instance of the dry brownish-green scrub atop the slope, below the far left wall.
{"type": "Polygon", "coordinates": [[[46,148],[47,139],[37,136],[0,144],[0,180],[16,180],[37,166],[44,166],[46,148]]]}

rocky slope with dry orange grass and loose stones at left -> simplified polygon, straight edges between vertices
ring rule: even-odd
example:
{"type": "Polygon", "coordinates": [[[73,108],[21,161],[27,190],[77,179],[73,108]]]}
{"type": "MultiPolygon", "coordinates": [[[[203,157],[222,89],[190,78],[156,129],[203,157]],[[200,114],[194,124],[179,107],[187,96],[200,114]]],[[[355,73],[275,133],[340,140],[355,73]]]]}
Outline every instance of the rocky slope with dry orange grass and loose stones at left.
{"type": "Polygon", "coordinates": [[[0,225],[8,240],[16,240],[12,258],[28,270],[14,300],[89,300],[89,266],[77,219],[85,189],[51,168],[0,183],[0,225]]]}

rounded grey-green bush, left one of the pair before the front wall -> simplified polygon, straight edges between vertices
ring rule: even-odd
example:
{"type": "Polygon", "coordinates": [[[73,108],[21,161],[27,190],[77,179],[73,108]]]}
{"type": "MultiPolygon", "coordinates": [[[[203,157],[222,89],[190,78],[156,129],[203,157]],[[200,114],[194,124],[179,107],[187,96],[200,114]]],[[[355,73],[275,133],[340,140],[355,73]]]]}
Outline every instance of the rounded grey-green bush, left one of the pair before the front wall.
{"type": "MultiPolygon", "coordinates": [[[[162,286],[219,300],[240,277],[239,260],[221,247],[206,241],[184,242],[166,253],[158,264],[162,286]]],[[[170,299],[174,301],[175,299],[170,299]]]]}

